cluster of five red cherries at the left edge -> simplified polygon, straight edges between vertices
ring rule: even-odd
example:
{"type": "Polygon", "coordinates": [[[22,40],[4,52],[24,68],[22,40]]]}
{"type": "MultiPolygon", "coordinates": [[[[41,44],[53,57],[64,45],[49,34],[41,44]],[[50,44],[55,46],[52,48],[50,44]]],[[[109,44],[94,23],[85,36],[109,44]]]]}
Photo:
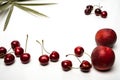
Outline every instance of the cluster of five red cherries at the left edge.
{"type": "Polygon", "coordinates": [[[4,62],[6,65],[13,64],[15,62],[15,56],[20,57],[20,60],[23,64],[29,63],[31,56],[29,53],[26,53],[26,49],[24,50],[20,46],[20,42],[18,40],[14,40],[11,42],[10,50],[7,51],[5,47],[0,47],[0,58],[4,58],[4,62]],[[13,52],[9,52],[11,49],[13,50],[13,52]],[[15,56],[12,53],[14,53],[15,56]]]}

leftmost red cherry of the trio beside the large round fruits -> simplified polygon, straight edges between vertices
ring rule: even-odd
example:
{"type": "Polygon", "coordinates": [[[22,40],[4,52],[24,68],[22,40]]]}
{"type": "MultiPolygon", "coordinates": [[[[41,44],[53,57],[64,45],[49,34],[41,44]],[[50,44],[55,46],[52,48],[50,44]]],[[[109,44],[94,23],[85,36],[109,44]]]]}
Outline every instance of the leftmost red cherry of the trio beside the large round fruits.
{"type": "Polygon", "coordinates": [[[70,60],[64,60],[61,62],[61,66],[64,71],[69,71],[72,69],[72,62],[70,60]]]}

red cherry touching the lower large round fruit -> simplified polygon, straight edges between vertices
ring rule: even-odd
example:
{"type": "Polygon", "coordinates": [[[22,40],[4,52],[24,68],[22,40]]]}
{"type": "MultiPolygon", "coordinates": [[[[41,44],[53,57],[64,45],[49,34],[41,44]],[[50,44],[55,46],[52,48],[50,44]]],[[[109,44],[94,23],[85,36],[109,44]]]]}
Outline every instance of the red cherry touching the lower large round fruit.
{"type": "Polygon", "coordinates": [[[80,64],[80,69],[83,72],[89,72],[91,67],[92,65],[87,60],[83,60],[82,63],[80,64]]]}

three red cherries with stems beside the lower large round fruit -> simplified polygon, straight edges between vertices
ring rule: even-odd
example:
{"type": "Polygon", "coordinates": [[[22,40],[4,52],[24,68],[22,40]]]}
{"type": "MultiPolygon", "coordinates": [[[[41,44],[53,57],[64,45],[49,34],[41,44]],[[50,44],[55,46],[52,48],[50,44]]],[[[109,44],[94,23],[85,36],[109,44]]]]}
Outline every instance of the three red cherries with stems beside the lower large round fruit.
{"type": "MultiPolygon", "coordinates": [[[[69,55],[73,55],[73,56],[75,56],[75,57],[79,60],[78,57],[81,57],[81,56],[83,55],[83,53],[84,53],[83,47],[77,46],[77,47],[74,49],[74,53],[75,53],[75,54],[68,54],[68,55],[66,55],[66,57],[69,56],[69,55]]],[[[87,54],[87,53],[86,53],[86,54],[87,54]]],[[[88,54],[87,54],[87,55],[88,55],[88,54]]],[[[79,60],[79,62],[80,62],[79,68],[80,68],[81,71],[83,71],[83,72],[89,72],[89,71],[90,71],[92,65],[90,64],[89,61],[83,60],[83,61],[81,62],[81,61],[79,60]]],[[[62,62],[61,62],[61,66],[62,66],[62,69],[63,69],[64,71],[69,71],[69,70],[71,70],[72,68],[74,68],[74,67],[72,67],[73,64],[72,64],[72,61],[71,61],[71,60],[64,60],[64,61],[62,61],[62,62]]]]}

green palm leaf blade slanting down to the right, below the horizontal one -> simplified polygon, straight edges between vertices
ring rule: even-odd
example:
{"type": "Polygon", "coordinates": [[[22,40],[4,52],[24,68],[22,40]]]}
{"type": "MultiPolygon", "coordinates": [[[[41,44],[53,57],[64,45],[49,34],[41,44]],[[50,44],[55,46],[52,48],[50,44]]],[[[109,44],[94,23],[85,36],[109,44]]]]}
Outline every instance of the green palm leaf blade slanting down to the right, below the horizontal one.
{"type": "Polygon", "coordinates": [[[15,6],[18,7],[18,8],[20,8],[20,9],[22,9],[22,10],[24,10],[24,11],[26,11],[26,12],[28,12],[28,13],[32,13],[32,14],[35,14],[35,15],[48,17],[47,15],[45,15],[45,14],[43,14],[43,13],[40,13],[40,12],[38,12],[38,11],[36,11],[36,10],[33,10],[33,9],[31,9],[31,8],[27,8],[27,7],[25,7],[25,6],[19,5],[19,4],[17,4],[17,3],[15,3],[15,6]]]}

